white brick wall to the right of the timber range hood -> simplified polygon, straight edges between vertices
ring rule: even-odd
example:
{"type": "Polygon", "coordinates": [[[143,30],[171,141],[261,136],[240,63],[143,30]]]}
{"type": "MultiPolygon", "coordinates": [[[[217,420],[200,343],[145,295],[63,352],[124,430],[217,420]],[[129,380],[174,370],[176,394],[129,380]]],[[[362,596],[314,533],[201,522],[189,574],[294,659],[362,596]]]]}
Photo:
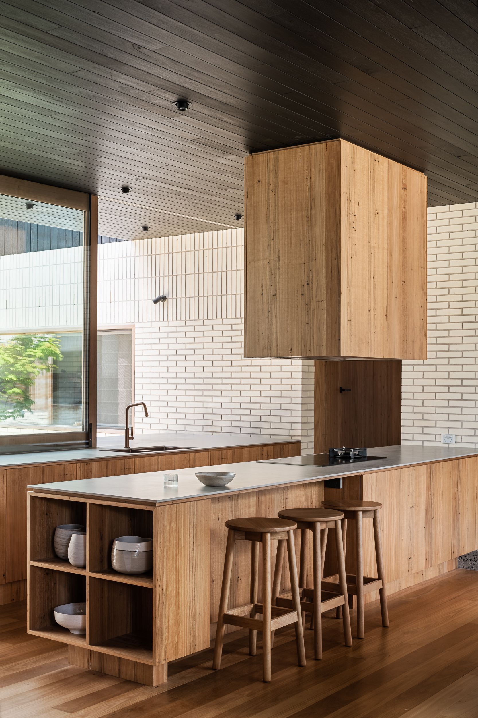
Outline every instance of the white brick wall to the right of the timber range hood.
{"type": "Polygon", "coordinates": [[[478,445],[478,203],[430,208],[428,359],[403,362],[402,442],[478,445]]]}

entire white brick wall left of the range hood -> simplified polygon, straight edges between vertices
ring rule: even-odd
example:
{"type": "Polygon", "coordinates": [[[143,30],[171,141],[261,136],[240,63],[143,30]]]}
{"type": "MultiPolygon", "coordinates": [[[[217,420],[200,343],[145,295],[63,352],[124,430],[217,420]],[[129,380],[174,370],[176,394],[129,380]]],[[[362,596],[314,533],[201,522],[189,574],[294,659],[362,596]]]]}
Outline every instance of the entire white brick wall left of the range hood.
{"type": "Polygon", "coordinates": [[[151,412],[138,432],[283,434],[312,450],[313,362],[243,356],[242,230],[98,249],[99,323],[135,325],[135,398],[151,412]]]}

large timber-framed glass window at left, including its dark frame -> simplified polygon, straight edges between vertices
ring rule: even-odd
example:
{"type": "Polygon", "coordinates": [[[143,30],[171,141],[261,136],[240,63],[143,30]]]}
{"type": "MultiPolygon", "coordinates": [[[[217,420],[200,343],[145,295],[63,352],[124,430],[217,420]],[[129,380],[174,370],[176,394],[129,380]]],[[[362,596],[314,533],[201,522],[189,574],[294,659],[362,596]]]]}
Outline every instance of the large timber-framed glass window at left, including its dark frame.
{"type": "Polygon", "coordinates": [[[96,205],[9,177],[0,188],[0,452],[92,445],[96,205]]]}

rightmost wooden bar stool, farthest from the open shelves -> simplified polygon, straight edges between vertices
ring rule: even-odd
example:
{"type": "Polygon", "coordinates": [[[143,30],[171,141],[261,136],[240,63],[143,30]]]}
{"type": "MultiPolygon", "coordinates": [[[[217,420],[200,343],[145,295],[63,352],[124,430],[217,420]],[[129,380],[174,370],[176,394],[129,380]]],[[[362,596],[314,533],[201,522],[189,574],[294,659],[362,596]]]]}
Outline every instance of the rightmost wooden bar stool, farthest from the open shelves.
{"type": "MultiPolygon", "coordinates": [[[[378,512],[382,508],[378,501],[360,501],[355,499],[340,499],[322,501],[322,506],[327,509],[343,511],[343,546],[344,556],[346,550],[347,521],[355,521],[355,576],[347,574],[347,591],[349,595],[357,597],[357,638],[363,638],[365,628],[363,623],[363,595],[376,591],[380,595],[380,607],[382,613],[382,625],[388,626],[387,596],[385,590],[385,574],[383,572],[382,543],[380,536],[380,519],[378,512]],[[363,534],[362,522],[364,518],[373,519],[373,538],[375,539],[375,553],[377,559],[377,578],[363,575],[363,534]]],[[[326,590],[338,592],[338,584],[324,581],[322,587],[326,590]]]]}

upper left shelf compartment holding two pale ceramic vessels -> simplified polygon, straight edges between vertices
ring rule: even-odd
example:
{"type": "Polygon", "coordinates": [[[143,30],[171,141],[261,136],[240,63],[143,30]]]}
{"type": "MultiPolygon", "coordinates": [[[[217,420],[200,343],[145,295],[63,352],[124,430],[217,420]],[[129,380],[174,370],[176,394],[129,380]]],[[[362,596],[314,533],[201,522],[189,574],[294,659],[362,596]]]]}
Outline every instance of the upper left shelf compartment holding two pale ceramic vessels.
{"type": "Polygon", "coordinates": [[[54,552],[54,530],[57,526],[80,523],[86,530],[86,503],[82,501],[30,496],[29,512],[30,561],[44,563],[57,559],[54,552]]]}

